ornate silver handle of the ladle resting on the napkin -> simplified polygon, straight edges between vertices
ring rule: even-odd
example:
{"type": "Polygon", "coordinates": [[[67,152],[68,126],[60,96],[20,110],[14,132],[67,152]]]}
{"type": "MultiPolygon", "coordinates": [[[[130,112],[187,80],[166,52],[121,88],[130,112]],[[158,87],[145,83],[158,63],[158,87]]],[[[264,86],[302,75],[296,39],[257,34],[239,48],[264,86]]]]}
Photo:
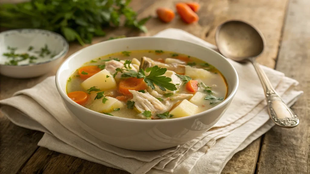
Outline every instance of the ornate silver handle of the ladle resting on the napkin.
{"type": "Polygon", "coordinates": [[[263,85],[265,96],[267,98],[267,108],[271,120],[275,124],[285,128],[293,128],[297,126],[299,124],[297,115],[282,101],[281,97],[272,87],[265,72],[263,72],[263,70],[259,67],[259,64],[256,62],[255,58],[250,58],[249,60],[254,65],[263,85]]]}

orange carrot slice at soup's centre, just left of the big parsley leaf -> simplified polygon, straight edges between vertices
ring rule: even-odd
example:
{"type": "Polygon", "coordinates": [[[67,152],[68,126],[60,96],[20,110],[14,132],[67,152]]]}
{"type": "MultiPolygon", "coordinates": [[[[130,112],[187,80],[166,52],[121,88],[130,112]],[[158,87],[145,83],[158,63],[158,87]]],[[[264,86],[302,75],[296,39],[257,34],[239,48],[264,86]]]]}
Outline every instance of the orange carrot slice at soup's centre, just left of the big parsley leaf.
{"type": "Polygon", "coordinates": [[[143,78],[137,79],[137,78],[128,78],[125,80],[121,80],[118,85],[118,91],[125,95],[130,95],[131,93],[129,90],[142,90],[146,89],[146,85],[143,81],[143,78]]]}

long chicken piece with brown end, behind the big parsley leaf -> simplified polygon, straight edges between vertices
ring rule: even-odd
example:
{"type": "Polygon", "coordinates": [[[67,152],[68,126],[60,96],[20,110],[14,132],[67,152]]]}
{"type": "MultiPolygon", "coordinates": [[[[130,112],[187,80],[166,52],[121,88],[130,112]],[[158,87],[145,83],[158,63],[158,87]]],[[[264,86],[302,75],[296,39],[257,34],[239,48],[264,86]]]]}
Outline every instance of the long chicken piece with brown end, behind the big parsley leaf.
{"type": "Polygon", "coordinates": [[[161,68],[167,68],[167,70],[174,71],[178,74],[185,73],[185,65],[161,63],[161,62],[154,61],[148,57],[141,58],[140,68],[146,69],[148,67],[153,67],[155,65],[161,68]]]}

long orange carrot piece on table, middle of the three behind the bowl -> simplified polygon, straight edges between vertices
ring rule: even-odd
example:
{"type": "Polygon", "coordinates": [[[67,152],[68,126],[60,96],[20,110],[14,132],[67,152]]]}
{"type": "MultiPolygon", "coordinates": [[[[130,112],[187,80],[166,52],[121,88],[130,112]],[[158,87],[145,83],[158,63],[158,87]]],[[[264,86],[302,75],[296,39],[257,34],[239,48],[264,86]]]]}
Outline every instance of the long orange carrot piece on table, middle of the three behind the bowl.
{"type": "Polygon", "coordinates": [[[185,3],[177,3],[175,7],[184,22],[190,24],[199,20],[198,15],[185,3]]]}

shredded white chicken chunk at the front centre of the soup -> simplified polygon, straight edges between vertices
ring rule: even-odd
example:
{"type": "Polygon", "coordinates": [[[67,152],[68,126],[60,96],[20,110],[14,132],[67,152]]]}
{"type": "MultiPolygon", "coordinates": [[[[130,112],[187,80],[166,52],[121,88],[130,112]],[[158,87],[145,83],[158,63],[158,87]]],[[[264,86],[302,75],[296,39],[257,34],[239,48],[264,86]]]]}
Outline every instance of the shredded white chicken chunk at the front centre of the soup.
{"type": "Polygon", "coordinates": [[[133,95],[130,101],[135,102],[135,107],[139,112],[164,112],[168,109],[167,106],[148,93],[141,93],[135,90],[129,90],[129,92],[133,95]]]}

